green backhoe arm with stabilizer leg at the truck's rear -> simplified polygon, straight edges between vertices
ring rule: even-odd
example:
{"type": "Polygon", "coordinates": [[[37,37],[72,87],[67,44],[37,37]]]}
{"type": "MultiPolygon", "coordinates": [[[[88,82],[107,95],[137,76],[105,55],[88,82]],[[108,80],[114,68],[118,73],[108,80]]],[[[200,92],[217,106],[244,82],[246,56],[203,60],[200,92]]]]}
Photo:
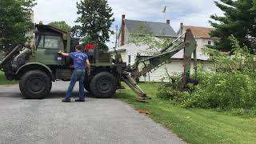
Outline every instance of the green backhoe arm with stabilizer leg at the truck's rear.
{"type": "Polygon", "coordinates": [[[152,70],[157,70],[160,66],[165,64],[167,60],[170,60],[170,58],[174,56],[174,54],[177,54],[182,49],[184,49],[184,74],[182,74],[182,87],[185,87],[190,79],[190,63],[192,54],[194,54],[194,69],[197,70],[197,42],[195,41],[194,35],[192,34],[191,30],[186,30],[186,33],[175,39],[174,42],[171,42],[169,46],[167,46],[165,49],[162,49],[160,51],[160,54],[151,56],[149,58],[140,58],[138,56],[138,58],[134,62],[134,65],[130,66],[130,69],[126,70],[123,73],[122,81],[126,82],[126,84],[138,94],[138,98],[145,99],[146,94],[138,87],[135,80],[144,74],[152,72],[152,70]],[[179,42],[178,45],[174,46],[174,42],[178,42],[178,39],[183,38],[184,35],[184,41],[179,42]],[[138,67],[140,64],[143,64],[143,67],[139,70],[138,67]]]}

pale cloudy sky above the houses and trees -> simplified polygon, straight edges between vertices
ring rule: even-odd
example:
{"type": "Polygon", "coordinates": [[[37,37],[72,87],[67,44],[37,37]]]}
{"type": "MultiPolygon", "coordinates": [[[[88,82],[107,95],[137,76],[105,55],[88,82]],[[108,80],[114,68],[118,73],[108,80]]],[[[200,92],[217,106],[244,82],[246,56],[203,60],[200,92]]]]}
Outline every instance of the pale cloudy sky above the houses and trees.
{"type": "MultiPolygon", "coordinates": [[[[80,0],[37,0],[34,7],[34,22],[42,21],[44,24],[54,21],[66,21],[74,26],[76,2],[80,0]]],[[[162,10],[167,6],[166,19],[178,31],[180,22],[186,26],[210,27],[211,14],[222,14],[214,5],[214,0],[108,0],[114,12],[115,22],[112,26],[121,25],[121,16],[126,14],[127,19],[165,22],[162,10]]],[[[110,39],[114,42],[114,36],[110,39]]],[[[114,46],[113,44],[108,44],[114,46]]]]}

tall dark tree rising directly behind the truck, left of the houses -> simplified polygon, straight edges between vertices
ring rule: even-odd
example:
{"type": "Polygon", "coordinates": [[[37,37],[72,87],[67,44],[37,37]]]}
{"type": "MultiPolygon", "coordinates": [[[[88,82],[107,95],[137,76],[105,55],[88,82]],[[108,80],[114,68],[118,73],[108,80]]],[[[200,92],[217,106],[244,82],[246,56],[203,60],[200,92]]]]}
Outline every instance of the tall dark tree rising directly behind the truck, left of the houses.
{"type": "Polygon", "coordinates": [[[73,34],[82,38],[82,42],[98,45],[101,50],[108,50],[106,42],[110,41],[110,26],[114,22],[111,7],[107,0],[82,0],[77,2],[79,17],[73,34]]]}

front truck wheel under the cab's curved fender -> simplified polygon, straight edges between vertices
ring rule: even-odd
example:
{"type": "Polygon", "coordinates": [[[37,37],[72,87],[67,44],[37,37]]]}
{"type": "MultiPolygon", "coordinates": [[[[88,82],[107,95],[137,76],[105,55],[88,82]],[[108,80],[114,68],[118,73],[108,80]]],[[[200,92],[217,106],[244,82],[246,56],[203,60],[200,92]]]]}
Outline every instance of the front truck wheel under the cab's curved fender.
{"type": "Polygon", "coordinates": [[[31,70],[24,74],[19,82],[22,96],[42,99],[50,94],[52,83],[50,76],[40,70],[31,70]]]}

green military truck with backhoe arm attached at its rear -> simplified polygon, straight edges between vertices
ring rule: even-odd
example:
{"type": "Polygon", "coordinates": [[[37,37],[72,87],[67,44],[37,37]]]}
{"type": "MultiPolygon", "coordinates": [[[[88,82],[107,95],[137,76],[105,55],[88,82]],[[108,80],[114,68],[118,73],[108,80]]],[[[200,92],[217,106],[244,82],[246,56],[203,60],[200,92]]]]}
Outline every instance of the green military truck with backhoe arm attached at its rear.
{"type": "MultiPolygon", "coordinates": [[[[70,81],[74,71],[72,59],[63,57],[58,51],[73,52],[79,42],[78,39],[70,37],[70,32],[38,24],[35,25],[32,43],[31,48],[26,48],[24,45],[15,46],[0,62],[0,69],[4,71],[7,79],[19,81],[22,96],[25,98],[46,98],[50,94],[52,82],[70,81]]],[[[183,74],[185,86],[190,78],[190,61],[193,53],[196,64],[195,48],[193,34],[187,30],[160,54],[148,58],[138,55],[134,65],[127,66],[126,62],[122,62],[122,57],[117,51],[104,52],[85,46],[85,53],[91,63],[90,76],[86,76],[85,79],[85,89],[96,98],[110,98],[117,89],[122,88],[121,82],[126,82],[138,94],[138,98],[144,100],[148,97],[138,87],[135,79],[156,70],[182,49],[185,51],[183,74]],[[184,41],[179,42],[181,38],[184,41]],[[175,42],[178,44],[173,46],[175,42]]]]}

